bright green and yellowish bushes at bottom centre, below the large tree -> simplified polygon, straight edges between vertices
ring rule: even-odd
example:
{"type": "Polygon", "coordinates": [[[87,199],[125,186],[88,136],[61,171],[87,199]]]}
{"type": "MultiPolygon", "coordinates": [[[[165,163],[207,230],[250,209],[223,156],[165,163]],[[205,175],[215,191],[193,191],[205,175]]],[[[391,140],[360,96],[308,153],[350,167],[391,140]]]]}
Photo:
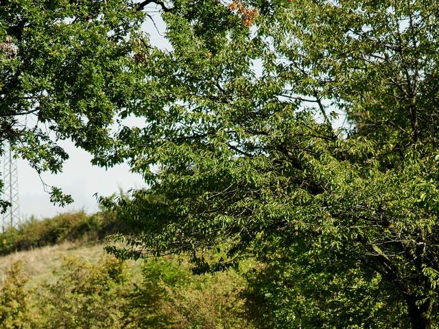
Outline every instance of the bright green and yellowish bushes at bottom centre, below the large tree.
{"type": "Polygon", "coordinates": [[[192,276],[175,261],[149,261],[130,295],[125,328],[252,328],[240,295],[244,287],[235,271],[192,276]]]}

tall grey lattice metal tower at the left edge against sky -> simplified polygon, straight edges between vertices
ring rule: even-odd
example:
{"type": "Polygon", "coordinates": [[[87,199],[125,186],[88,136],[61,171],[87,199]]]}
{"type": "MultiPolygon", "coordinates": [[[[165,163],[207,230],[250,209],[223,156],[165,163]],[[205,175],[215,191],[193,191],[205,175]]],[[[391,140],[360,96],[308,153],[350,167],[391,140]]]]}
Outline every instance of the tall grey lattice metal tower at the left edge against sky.
{"type": "Polygon", "coordinates": [[[3,153],[3,193],[2,199],[4,201],[10,202],[11,206],[8,210],[1,214],[2,225],[1,230],[5,232],[5,228],[17,226],[20,222],[20,206],[19,206],[19,175],[17,171],[16,158],[12,154],[11,145],[9,143],[4,143],[4,153],[3,153]]]}

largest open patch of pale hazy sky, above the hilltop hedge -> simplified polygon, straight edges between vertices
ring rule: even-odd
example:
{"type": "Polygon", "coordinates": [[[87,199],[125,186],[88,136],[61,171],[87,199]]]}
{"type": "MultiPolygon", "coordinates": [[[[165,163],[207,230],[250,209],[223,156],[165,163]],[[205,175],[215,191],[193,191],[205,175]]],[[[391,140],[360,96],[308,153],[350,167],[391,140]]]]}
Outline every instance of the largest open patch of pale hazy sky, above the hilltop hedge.
{"type": "Polygon", "coordinates": [[[75,202],[61,208],[49,201],[49,194],[44,191],[40,177],[24,160],[18,160],[19,198],[21,218],[27,219],[31,215],[37,218],[51,217],[59,212],[84,209],[86,212],[97,210],[97,200],[93,195],[108,196],[118,193],[121,188],[145,186],[140,175],[130,173],[127,164],[115,168],[105,169],[91,165],[91,156],[82,149],[76,149],[72,143],[64,142],[62,146],[70,155],[64,163],[62,173],[51,175],[43,174],[46,184],[62,188],[64,193],[72,195],[75,202]]]}

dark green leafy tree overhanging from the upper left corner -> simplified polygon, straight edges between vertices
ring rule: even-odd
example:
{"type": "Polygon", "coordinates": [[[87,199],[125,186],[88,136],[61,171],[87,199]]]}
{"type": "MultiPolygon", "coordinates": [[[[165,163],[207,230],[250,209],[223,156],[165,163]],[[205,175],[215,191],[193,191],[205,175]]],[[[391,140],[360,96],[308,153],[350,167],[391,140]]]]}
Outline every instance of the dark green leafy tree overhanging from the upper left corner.
{"type": "MultiPolygon", "coordinates": [[[[61,170],[58,141],[105,147],[131,98],[128,36],[140,23],[130,1],[0,1],[1,145],[38,173],[61,170]]],[[[51,199],[71,202],[56,187],[51,199]]]]}

